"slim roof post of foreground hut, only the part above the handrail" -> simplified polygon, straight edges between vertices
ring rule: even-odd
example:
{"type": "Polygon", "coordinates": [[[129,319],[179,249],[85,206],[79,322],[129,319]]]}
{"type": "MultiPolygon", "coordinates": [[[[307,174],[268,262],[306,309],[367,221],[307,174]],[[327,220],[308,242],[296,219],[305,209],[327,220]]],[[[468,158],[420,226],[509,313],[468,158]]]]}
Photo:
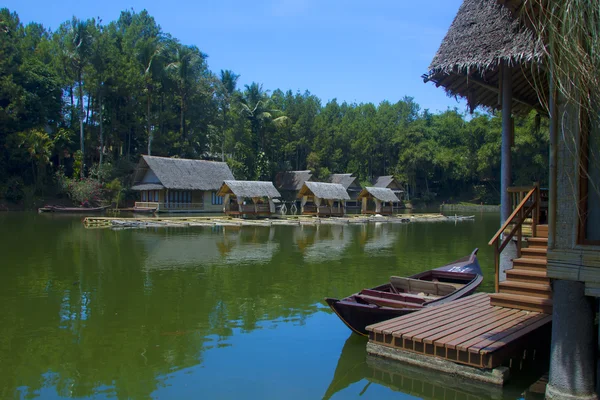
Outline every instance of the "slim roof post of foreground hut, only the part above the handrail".
{"type": "Polygon", "coordinates": [[[512,70],[503,62],[501,65],[502,93],[502,161],[500,167],[500,225],[510,216],[510,197],[508,188],[511,185],[510,145],[512,136],[512,70]]]}

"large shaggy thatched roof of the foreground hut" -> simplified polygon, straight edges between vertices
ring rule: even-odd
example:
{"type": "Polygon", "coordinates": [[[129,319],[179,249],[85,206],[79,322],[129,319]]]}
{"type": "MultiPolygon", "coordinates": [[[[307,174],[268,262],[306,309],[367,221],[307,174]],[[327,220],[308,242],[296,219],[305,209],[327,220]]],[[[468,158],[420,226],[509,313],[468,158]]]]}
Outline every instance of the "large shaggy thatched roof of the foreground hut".
{"type": "Polygon", "coordinates": [[[547,77],[533,31],[497,0],[464,0],[423,78],[450,96],[466,98],[471,110],[499,109],[503,62],[512,67],[513,112],[542,110],[533,83],[547,77]]]}

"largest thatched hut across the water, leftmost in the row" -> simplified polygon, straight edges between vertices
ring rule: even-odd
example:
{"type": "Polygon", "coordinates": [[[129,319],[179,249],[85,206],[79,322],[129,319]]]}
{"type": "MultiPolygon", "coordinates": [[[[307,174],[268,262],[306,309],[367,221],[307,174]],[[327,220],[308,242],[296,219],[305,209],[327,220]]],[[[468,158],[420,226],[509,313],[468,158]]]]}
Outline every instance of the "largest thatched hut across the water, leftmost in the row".
{"type": "Polygon", "coordinates": [[[142,156],[132,190],[139,192],[136,207],[158,212],[221,212],[217,191],[233,180],[224,162],[142,156]]]}

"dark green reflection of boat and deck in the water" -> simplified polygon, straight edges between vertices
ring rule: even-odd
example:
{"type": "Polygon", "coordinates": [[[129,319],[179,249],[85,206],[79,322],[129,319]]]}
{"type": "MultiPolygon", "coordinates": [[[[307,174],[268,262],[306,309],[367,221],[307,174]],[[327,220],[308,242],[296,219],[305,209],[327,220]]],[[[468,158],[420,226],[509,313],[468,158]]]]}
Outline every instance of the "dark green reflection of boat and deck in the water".
{"type": "Polygon", "coordinates": [[[544,398],[543,388],[540,391],[534,385],[543,373],[540,371],[519,373],[507,386],[499,387],[371,356],[366,353],[365,344],[360,336],[348,337],[323,399],[347,398],[357,392],[362,396],[373,391],[373,385],[428,400],[544,398]]]}

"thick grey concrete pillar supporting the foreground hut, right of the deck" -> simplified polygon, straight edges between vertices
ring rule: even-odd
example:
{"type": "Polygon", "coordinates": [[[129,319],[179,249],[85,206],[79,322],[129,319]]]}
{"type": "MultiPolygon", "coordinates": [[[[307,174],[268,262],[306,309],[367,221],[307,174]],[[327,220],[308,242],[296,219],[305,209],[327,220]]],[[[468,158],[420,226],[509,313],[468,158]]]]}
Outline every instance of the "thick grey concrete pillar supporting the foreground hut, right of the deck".
{"type": "Polygon", "coordinates": [[[547,399],[597,400],[593,301],[582,282],[553,284],[552,347],[547,399]]]}

